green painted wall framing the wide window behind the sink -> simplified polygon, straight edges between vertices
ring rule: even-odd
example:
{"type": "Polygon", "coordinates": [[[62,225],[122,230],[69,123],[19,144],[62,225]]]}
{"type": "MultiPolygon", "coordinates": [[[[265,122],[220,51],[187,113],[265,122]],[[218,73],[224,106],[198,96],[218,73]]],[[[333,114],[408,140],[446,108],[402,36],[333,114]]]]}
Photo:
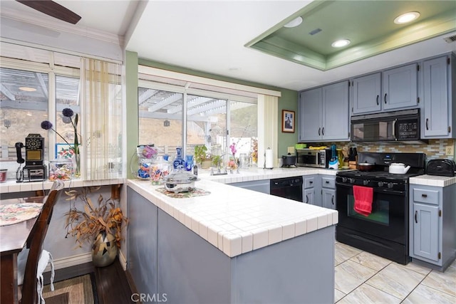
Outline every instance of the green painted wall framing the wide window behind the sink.
{"type": "MultiPolygon", "coordinates": [[[[138,54],[134,52],[126,52],[126,92],[127,92],[127,147],[128,147],[128,162],[132,153],[135,152],[135,147],[138,145],[138,65],[150,66],[152,68],[161,68],[163,70],[171,70],[173,72],[185,73],[204,78],[211,78],[215,80],[227,81],[230,83],[238,83],[242,85],[250,85],[257,88],[265,88],[269,90],[276,90],[281,92],[279,98],[278,108],[278,121],[279,121],[279,148],[277,150],[279,157],[286,154],[286,147],[294,146],[298,142],[298,130],[296,129],[297,120],[295,120],[295,132],[294,133],[282,133],[281,132],[281,115],[282,110],[291,110],[298,114],[298,92],[294,90],[288,90],[284,88],[277,88],[271,85],[264,85],[261,83],[253,83],[250,81],[239,80],[236,78],[224,77],[221,75],[214,75],[210,73],[204,73],[198,70],[191,70],[189,68],[182,68],[175,65],[167,65],[164,63],[158,63],[142,58],[138,58],[138,54]]],[[[296,116],[297,117],[297,116],[296,116]]],[[[130,164],[128,164],[129,168],[130,164]]],[[[128,177],[131,174],[128,175],[128,177]]]]}

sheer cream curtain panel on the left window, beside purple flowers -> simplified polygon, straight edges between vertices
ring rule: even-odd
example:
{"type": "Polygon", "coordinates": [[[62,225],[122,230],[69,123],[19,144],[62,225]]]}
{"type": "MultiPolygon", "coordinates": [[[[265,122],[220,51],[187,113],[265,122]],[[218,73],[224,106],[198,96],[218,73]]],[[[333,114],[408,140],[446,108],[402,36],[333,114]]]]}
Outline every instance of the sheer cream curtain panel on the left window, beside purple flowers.
{"type": "Polygon", "coordinates": [[[81,113],[86,116],[81,117],[85,179],[122,177],[120,75],[121,65],[117,63],[81,58],[81,113]]]}

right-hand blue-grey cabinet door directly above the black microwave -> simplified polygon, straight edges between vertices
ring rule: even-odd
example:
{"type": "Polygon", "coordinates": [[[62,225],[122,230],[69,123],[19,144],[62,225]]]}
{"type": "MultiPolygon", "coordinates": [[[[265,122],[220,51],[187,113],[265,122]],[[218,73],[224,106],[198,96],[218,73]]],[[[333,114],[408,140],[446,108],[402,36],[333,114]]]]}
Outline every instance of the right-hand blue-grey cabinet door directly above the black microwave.
{"type": "Polygon", "coordinates": [[[383,72],[383,110],[411,108],[418,105],[417,66],[413,63],[383,72]]]}

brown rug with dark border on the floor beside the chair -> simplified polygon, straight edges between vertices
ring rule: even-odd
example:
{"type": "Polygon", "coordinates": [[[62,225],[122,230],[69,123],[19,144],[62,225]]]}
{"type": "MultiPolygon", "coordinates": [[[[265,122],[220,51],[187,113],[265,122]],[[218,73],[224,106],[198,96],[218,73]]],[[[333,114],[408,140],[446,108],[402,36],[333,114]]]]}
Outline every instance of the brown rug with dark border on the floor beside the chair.
{"type": "Polygon", "coordinates": [[[46,304],[98,304],[95,273],[54,282],[53,291],[51,285],[45,285],[43,298],[46,304]]]}

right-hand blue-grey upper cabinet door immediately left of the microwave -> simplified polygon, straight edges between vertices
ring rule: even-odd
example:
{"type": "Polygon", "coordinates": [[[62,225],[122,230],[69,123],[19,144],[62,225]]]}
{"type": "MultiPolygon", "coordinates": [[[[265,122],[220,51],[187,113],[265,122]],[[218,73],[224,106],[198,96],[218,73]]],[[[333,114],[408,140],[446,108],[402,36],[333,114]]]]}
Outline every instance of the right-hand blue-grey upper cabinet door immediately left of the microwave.
{"type": "Polygon", "coordinates": [[[322,88],[322,140],[349,140],[348,81],[322,88]]]}

